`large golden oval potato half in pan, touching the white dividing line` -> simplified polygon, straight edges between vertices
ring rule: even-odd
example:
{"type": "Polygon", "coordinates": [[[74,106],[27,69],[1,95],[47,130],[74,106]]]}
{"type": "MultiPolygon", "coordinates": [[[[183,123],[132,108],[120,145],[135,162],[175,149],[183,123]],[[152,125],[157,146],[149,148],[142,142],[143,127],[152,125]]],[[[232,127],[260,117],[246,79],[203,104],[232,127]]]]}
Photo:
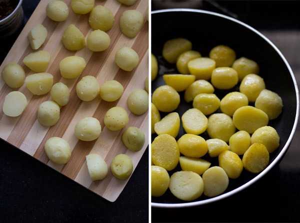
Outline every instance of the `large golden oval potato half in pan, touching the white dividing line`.
{"type": "Polygon", "coordinates": [[[169,134],[160,134],[151,143],[151,161],[166,170],[174,169],[179,162],[179,148],[176,139],[169,134]]]}

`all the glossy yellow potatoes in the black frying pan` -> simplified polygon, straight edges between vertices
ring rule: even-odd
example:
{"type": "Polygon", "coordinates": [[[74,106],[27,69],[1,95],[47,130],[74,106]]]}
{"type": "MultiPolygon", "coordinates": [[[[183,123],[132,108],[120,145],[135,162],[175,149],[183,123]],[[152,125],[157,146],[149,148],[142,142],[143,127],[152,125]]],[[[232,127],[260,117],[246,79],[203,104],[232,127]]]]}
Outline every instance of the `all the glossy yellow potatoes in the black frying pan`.
{"type": "MultiPolygon", "coordinates": [[[[283,104],[266,88],[258,64],[236,58],[227,45],[216,45],[202,56],[181,37],[164,43],[162,59],[178,73],[162,74],[164,84],[151,96],[151,195],[162,196],[169,189],[186,201],[202,194],[213,197],[243,169],[262,171],[269,153],[279,147],[279,135],[268,123],[280,115],[283,104]],[[215,89],[228,93],[219,98],[215,89]],[[181,115],[176,111],[179,93],[191,106],[181,115]],[[181,124],[183,134],[178,135],[181,124]],[[213,159],[217,164],[211,164],[213,159]],[[178,166],[181,170],[174,170],[178,166]]],[[[158,65],[151,53],[151,80],[157,78],[158,65]]]]}

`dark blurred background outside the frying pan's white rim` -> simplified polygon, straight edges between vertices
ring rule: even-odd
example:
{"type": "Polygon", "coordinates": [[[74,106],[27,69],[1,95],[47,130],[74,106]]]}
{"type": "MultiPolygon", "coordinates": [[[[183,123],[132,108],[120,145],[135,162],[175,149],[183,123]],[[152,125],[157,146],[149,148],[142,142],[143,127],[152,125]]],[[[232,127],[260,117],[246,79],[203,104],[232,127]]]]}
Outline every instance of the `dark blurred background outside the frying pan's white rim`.
{"type": "MultiPolygon", "coordinates": [[[[151,5],[210,10],[247,23],[278,47],[300,83],[300,1],[152,0],[151,5]]],[[[300,222],[299,129],[298,123],[280,163],[248,188],[201,206],[151,208],[152,222],[300,222]]]]}

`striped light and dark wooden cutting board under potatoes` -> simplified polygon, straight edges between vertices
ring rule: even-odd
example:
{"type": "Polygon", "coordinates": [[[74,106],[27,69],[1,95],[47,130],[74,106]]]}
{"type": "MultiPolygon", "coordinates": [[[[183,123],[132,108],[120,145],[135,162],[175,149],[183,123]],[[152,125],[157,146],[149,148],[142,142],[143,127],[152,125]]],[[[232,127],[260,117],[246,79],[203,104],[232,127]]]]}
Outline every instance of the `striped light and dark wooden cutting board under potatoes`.
{"type": "MultiPolygon", "coordinates": [[[[114,201],[130,179],[117,179],[109,170],[103,180],[91,181],[85,155],[98,153],[109,166],[115,155],[125,153],[131,157],[134,170],[148,145],[148,112],[135,115],[130,112],[126,104],[126,99],[133,89],[144,89],[144,80],[148,76],[148,22],[144,19],[141,31],[134,38],[123,35],[118,24],[121,13],[126,9],[137,9],[145,17],[148,1],[137,0],[133,5],[126,6],[120,4],[117,0],[95,0],[95,5],[101,4],[108,7],[113,12],[115,19],[113,27],[107,31],[111,39],[110,45],[102,52],[92,52],[87,47],[78,51],[65,49],[60,39],[64,29],[70,23],[75,24],[85,37],[92,30],[88,24],[88,14],[75,14],[69,6],[68,18],[62,22],[55,22],[45,14],[45,7],[49,1],[41,0],[39,2],[5,57],[0,70],[3,69],[6,63],[16,62],[24,68],[26,75],[33,73],[23,64],[22,60],[28,53],[34,51],[27,39],[29,30],[34,24],[41,23],[47,28],[48,35],[46,41],[38,50],[42,49],[51,54],[46,72],[53,75],[54,83],[60,81],[69,87],[70,100],[65,106],[61,107],[59,121],[54,126],[44,127],[37,120],[37,107],[42,101],[50,99],[50,95],[49,93],[39,96],[33,95],[24,84],[17,90],[25,94],[28,101],[27,107],[20,116],[8,117],[3,114],[2,105],[5,95],[15,89],[9,88],[0,77],[0,137],[96,194],[109,201],[114,201]],[[114,62],[114,54],[122,46],[132,47],[139,55],[138,66],[130,72],[121,70],[114,62]],[[82,56],[86,61],[86,67],[82,74],[75,79],[65,79],[61,77],[59,72],[59,61],[69,55],[82,56]],[[124,87],[121,98],[114,102],[107,102],[101,100],[98,96],[92,101],[81,101],[76,95],[75,86],[81,77],[85,75],[95,76],[100,85],[110,79],[119,81],[124,87]],[[129,122],[126,127],[136,126],[144,132],[145,144],[140,151],[130,151],[123,144],[121,134],[126,127],[118,131],[111,131],[104,126],[104,114],[113,106],[121,106],[127,111],[129,122]],[[102,126],[99,138],[90,142],[78,140],[74,136],[75,124],[86,116],[98,118],[102,126]],[[71,158],[64,165],[51,162],[44,152],[44,143],[52,136],[64,138],[72,149],[71,158]]],[[[67,5],[70,5],[71,0],[64,1],[67,5]]]]}

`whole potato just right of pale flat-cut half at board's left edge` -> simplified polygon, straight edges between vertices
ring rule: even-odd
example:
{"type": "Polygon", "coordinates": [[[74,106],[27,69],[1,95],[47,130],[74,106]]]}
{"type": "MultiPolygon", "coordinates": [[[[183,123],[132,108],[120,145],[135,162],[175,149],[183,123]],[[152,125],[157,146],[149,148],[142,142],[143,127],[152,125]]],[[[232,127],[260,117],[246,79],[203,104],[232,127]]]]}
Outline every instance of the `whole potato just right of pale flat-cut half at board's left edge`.
{"type": "Polygon", "coordinates": [[[52,126],[60,117],[60,107],[52,100],[46,100],[39,104],[37,109],[37,120],[43,126],[52,126]]]}

